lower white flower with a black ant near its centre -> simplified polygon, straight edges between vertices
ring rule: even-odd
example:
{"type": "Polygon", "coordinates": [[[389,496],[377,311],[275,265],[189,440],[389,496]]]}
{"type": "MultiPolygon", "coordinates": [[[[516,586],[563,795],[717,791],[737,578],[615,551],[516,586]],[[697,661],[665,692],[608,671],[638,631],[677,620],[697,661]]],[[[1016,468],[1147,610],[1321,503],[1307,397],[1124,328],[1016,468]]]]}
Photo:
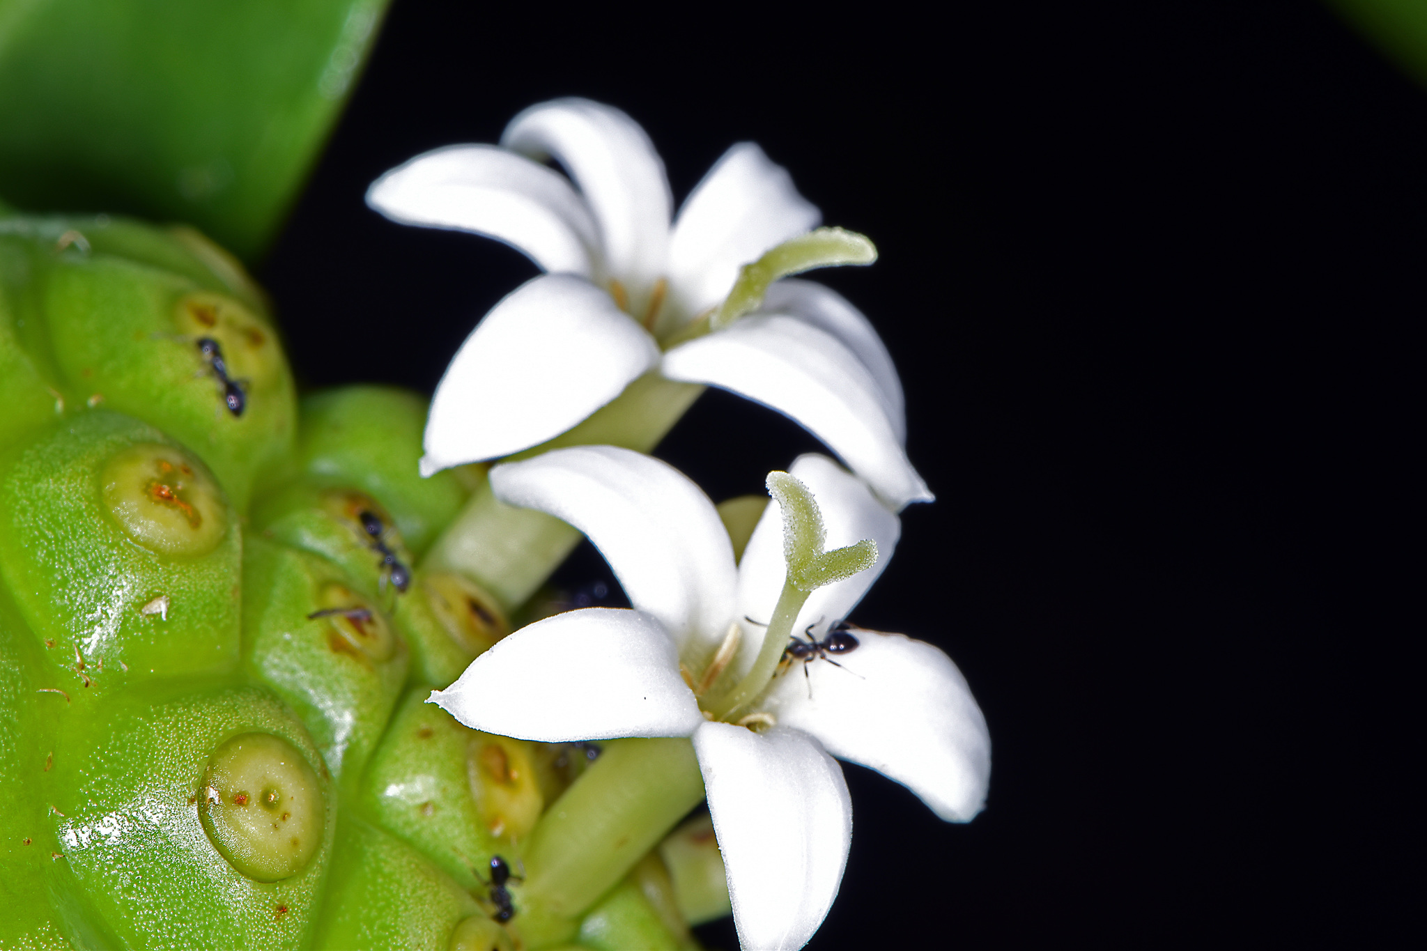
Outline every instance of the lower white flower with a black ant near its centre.
{"type": "MultiPolygon", "coordinates": [[[[808,596],[793,630],[812,626],[818,636],[862,599],[900,526],[825,456],[802,456],[791,472],[816,499],[829,548],[872,539],[882,553],[875,567],[808,596]]],[[[692,736],[743,947],[802,947],[838,893],[852,813],[829,754],[903,783],[945,820],[980,811],[986,721],[960,672],[932,644],[856,630],[860,643],[838,657],[841,670],[793,662],[736,710],[718,711],[718,694],[696,694],[711,667],[716,674],[726,663],[738,680],[759,654],[763,629],[745,619],[768,623],[781,603],[778,505],[735,566],[714,505],[656,459],[611,446],[557,449],[497,466],[491,485],[504,502],[588,535],[634,609],[537,622],[432,701],[474,729],[529,740],[692,736]],[[735,723],[709,720],[715,713],[735,723]]]]}

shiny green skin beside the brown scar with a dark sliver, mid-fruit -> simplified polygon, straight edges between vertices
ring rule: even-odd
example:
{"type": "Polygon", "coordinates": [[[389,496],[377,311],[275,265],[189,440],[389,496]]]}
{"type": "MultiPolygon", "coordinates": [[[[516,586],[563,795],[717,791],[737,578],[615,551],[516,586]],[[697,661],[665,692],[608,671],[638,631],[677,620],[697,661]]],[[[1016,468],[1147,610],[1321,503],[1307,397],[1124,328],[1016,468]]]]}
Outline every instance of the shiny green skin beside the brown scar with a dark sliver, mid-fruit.
{"type": "Polygon", "coordinates": [[[243,663],[297,711],[344,786],[371,756],[401,686],[407,646],[394,633],[381,662],[334,640],[330,623],[310,619],[323,585],[351,586],[331,562],[264,538],[248,539],[243,559],[243,663]],[[335,646],[334,646],[335,644],[335,646]]]}

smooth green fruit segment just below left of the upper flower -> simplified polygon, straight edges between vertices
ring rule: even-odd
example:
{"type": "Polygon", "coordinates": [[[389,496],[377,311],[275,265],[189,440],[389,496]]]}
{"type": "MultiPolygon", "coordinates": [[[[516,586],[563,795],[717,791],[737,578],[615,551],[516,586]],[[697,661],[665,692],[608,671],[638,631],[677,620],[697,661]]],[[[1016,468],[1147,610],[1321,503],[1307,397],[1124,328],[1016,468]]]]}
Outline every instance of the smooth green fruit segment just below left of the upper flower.
{"type": "Polygon", "coordinates": [[[342,386],[303,399],[297,458],[318,485],[352,486],[381,502],[417,556],[465,503],[451,469],[417,471],[428,401],[395,386],[342,386]]]}

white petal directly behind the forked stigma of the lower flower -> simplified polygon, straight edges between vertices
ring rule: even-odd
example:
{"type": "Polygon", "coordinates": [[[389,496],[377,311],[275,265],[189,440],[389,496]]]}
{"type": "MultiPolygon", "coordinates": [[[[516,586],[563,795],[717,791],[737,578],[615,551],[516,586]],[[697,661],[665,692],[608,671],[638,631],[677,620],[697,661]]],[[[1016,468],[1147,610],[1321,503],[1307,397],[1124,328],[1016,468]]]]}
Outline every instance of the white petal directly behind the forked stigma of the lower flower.
{"type": "MultiPolygon", "coordinates": [[[[902,535],[902,520],[886,510],[862,479],[849,475],[828,456],[808,453],[798,456],[788,469],[802,480],[818,499],[823,528],[828,532],[826,548],[843,548],[862,539],[878,543],[878,563],[865,572],[833,585],[819,587],[808,596],[793,633],[802,636],[809,624],[816,624],[815,636],[848,616],[872,582],[886,569],[902,535]]],[[[768,622],[783,589],[788,569],[783,562],[783,520],[778,503],[763,509],[743,559],[738,563],[738,609],[741,616],[768,622]]],[[[752,664],[762,637],[751,637],[739,653],[739,666],[752,664]]]]}

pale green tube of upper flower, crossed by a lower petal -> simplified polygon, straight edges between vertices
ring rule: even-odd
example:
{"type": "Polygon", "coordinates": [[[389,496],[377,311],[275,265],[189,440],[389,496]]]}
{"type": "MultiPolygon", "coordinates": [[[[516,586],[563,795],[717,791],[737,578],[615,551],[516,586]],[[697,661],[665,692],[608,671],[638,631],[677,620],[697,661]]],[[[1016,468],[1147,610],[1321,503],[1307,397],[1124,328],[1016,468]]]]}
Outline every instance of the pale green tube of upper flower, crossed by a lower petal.
{"type": "MultiPolygon", "coordinates": [[[[694,405],[704,386],[645,374],[569,432],[512,459],[549,449],[611,445],[649,452],[694,405]]],[[[557,518],[499,502],[482,482],[461,515],[437,539],[422,567],[457,570],[485,587],[507,613],[524,605],[579,543],[579,532],[557,518]]]]}

